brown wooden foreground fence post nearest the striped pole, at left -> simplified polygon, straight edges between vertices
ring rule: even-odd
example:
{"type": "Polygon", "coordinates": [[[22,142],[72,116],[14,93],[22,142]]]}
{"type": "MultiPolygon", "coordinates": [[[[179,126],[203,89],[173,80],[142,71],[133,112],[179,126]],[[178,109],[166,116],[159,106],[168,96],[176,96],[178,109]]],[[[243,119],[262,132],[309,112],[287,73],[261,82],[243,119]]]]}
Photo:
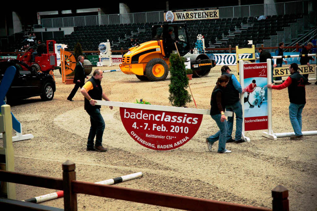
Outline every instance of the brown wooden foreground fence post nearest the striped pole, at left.
{"type": "Polygon", "coordinates": [[[64,210],[77,210],[77,194],[72,190],[72,180],[76,180],[75,164],[67,160],[62,164],[64,182],[64,210]]]}

